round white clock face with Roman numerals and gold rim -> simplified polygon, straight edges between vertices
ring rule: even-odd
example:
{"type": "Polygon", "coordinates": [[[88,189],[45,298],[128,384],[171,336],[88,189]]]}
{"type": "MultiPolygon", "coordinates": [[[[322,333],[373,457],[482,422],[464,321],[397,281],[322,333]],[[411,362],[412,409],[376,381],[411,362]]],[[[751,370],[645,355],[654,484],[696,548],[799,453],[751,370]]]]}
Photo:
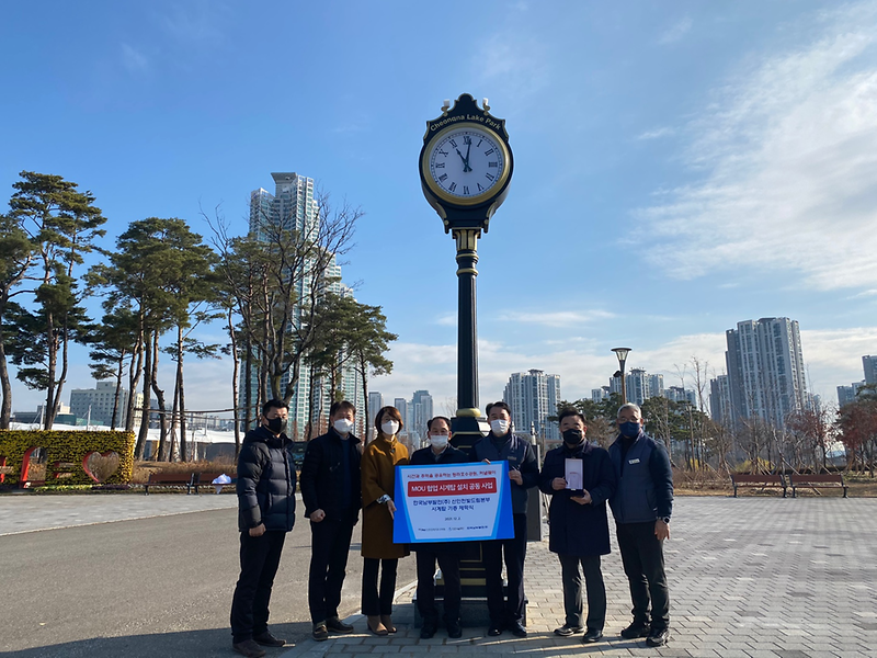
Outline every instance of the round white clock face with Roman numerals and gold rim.
{"type": "Polygon", "coordinates": [[[440,197],[475,205],[493,196],[508,178],[505,144],[479,126],[448,126],[424,154],[423,174],[440,197]]]}

